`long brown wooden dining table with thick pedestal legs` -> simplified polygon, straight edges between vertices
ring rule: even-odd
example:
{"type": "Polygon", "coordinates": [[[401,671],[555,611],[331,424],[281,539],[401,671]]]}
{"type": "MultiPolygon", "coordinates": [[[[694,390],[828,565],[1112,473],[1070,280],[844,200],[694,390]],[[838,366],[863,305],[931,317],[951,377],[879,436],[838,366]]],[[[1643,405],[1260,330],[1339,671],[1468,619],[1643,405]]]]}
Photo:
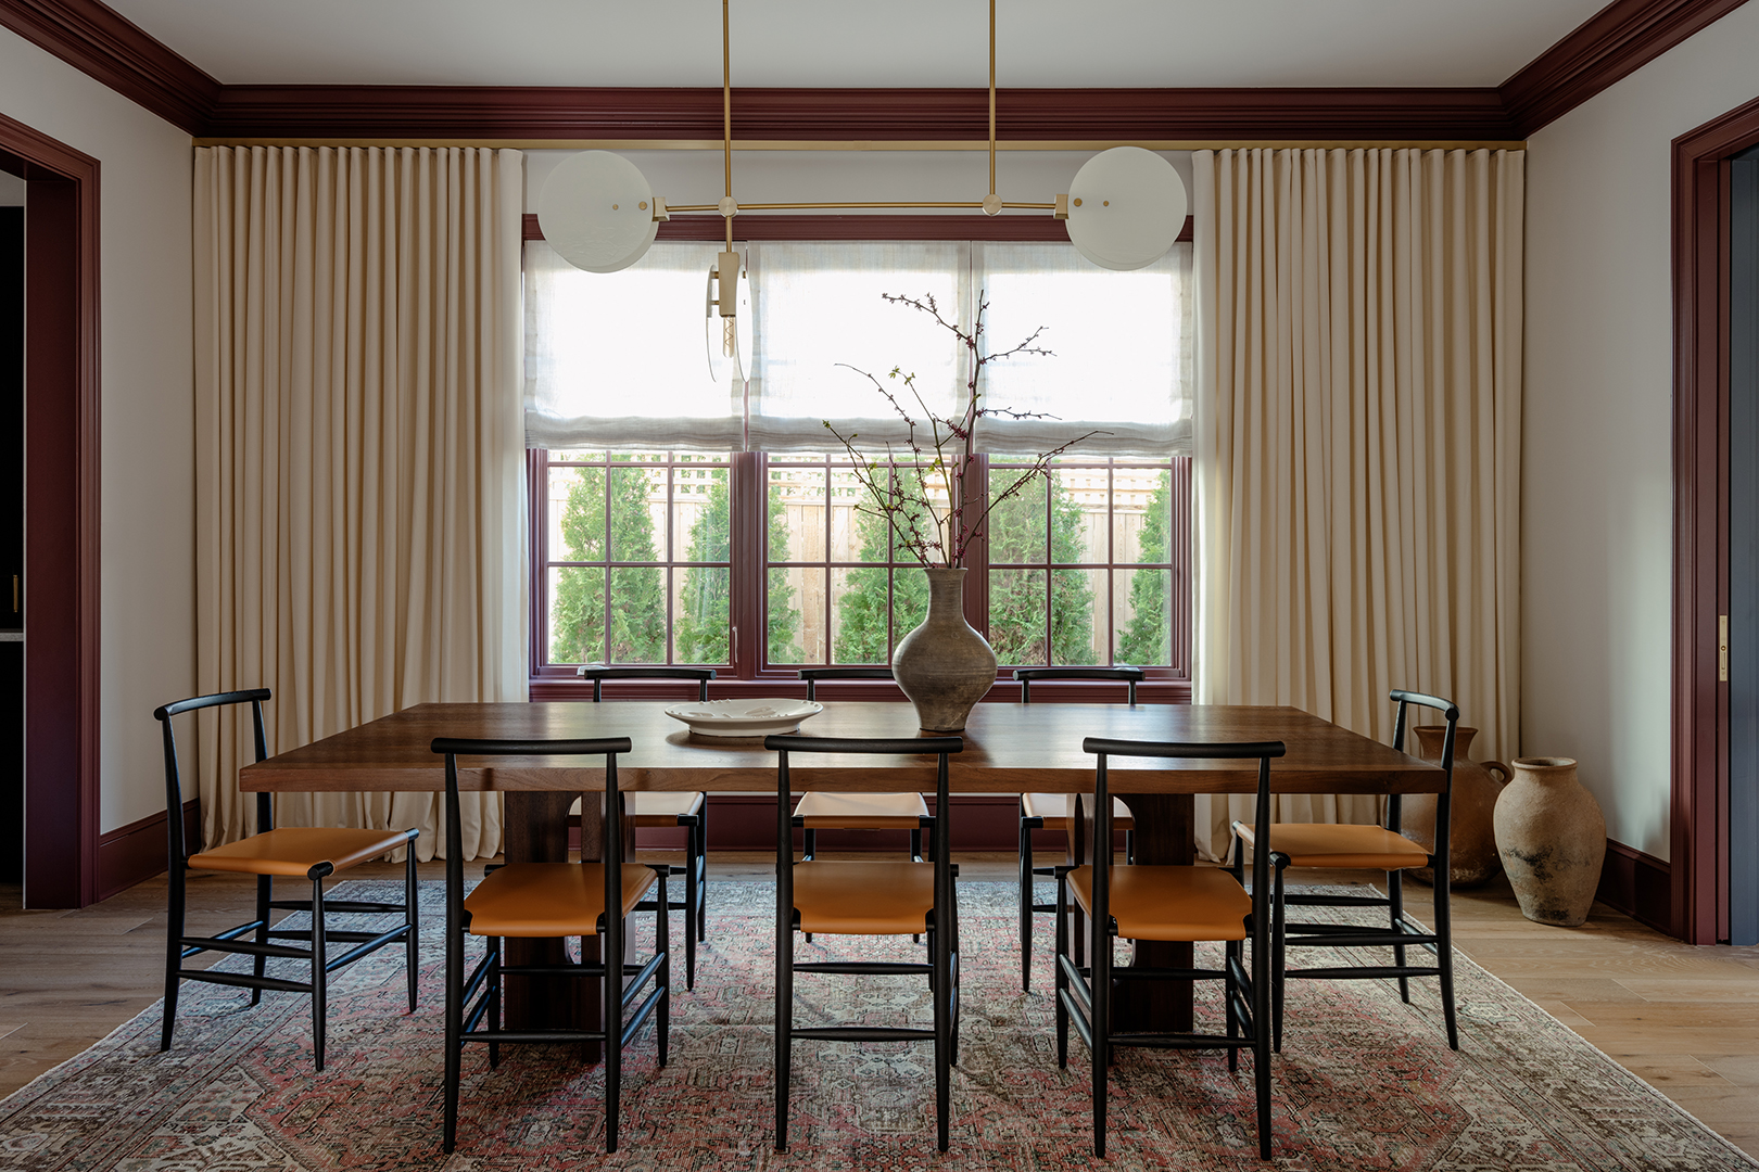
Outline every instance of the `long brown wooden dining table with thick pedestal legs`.
{"type": "MultiPolygon", "coordinates": [[[[347,792],[443,791],[442,757],[429,749],[436,736],[563,740],[630,738],[617,757],[623,791],[774,792],[776,754],[762,738],[693,733],[667,713],[668,701],[547,701],[429,703],[369,720],[354,729],[276,754],[239,771],[245,791],[347,792]]],[[[806,719],[813,736],[908,738],[920,733],[915,708],[904,701],[828,701],[806,719]]],[[[1279,794],[1420,794],[1439,792],[1442,770],[1300,708],[1259,705],[1094,705],[980,703],[952,757],[950,792],[1091,794],[1094,757],[1087,736],[1154,742],[1284,742],[1272,761],[1279,794]]],[[[895,792],[934,791],[932,757],[816,757],[792,754],[792,792],[813,789],[895,792]]],[[[1251,794],[1256,761],[1113,757],[1108,785],[1129,807],[1138,865],[1194,861],[1193,796],[1251,794]]],[[[551,757],[459,761],[461,791],[505,794],[507,861],[566,861],[568,810],[582,792],[603,791],[603,766],[551,757]]],[[[1071,819],[1078,826],[1080,819],[1071,819]]],[[[582,803],[580,842],[593,857],[598,803],[582,803]]],[[[1071,831],[1071,856],[1080,836],[1071,831]]],[[[589,942],[582,942],[588,945],[589,942]]],[[[545,942],[528,961],[554,959],[545,942]]],[[[559,947],[559,945],[549,945],[559,947]]],[[[519,963],[510,951],[510,963],[519,963]]],[[[1191,965],[1191,945],[1136,942],[1133,963],[1154,968],[1191,965]]],[[[1191,989],[1184,982],[1122,980],[1113,1010],[1145,1030],[1189,1030],[1191,989]]],[[[510,1023],[584,1023],[596,1017],[596,995],[561,995],[533,980],[524,993],[508,988],[510,1023]]]]}

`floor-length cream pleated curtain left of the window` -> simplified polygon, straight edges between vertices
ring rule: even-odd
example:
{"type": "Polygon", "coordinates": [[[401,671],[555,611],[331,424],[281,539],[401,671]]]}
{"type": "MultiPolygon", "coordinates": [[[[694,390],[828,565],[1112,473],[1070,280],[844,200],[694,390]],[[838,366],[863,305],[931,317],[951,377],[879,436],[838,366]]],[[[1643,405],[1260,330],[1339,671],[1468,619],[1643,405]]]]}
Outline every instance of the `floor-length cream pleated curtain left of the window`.
{"type": "MultiPolygon", "coordinates": [[[[195,151],[197,678],[271,687],[271,752],[526,699],[521,179],[517,151],[195,151]]],[[[201,729],[211,847],[255,829],[250,738],[201,729]]],[[[276,803],[294,826],[419,826],[422,859],[452,849],[438,812],[276,803]]],[[[498,796],[466,801],[463,836],[500,850],[498,796]]]]}

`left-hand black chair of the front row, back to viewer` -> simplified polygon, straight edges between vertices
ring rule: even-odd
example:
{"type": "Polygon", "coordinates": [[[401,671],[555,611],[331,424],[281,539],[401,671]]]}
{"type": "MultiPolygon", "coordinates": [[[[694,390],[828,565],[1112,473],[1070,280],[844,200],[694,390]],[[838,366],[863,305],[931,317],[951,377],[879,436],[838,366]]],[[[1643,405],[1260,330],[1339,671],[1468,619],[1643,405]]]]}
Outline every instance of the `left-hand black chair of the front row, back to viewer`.
{"type": "MultiPolygon", "coordinates": [[[[623,1047],[649,1017],[658,1026],[660,1065],[667,1061],[672,993],[670,922],[665,880],[670,868],[623,861],[624,794],[617,789],[617,754],[630,752],[626,736],[598,740],[463,740],[436,738],[433,752],[445,756],[447,842],[459,842],[459,757],[603,757],[605,815],[600,819],[602,861],[508,863],[489,868],[464,894],[464,863],[456,850],[445,861],[445,1133],[442,1146],[457,1144],[457,1098],[463,1053],[468,1042],[489,1045],[489,1067],[500,1063],[503,1044],[602,1042],[605,1054],[605,1151],[617,1151],[617,1111],[623,1089],[623,1047]],[[658,887],[658,891],[654,891],[658,887]],[[647,893],[654,898],[647,900],[647,893]],[[639,907],[654,912],[654,951],[646,963],[624,963],[623,921],[639,907]],[[607,914],[607,908],[616,908],[607,914]],[[482,959],[466,977],[464,945],[484,940],[482,959]],[[579,963],[507,965],[503,940],[598,937],[600,959],[579,963]],[[596,980],[602,991],[598,1030],[507,1030],[501,1023],[501,984],[508,977],[565,977],[596,980]],[[635,1003],[647,984],[653,989],[635,1003]],[[475,998],[475,1002],[471,1002],[475,998]],[[633,1009],[631,1003],[635,1003],[633,1009]]],[[[584,947],[582,947],[584,951],[584,947]]]]}

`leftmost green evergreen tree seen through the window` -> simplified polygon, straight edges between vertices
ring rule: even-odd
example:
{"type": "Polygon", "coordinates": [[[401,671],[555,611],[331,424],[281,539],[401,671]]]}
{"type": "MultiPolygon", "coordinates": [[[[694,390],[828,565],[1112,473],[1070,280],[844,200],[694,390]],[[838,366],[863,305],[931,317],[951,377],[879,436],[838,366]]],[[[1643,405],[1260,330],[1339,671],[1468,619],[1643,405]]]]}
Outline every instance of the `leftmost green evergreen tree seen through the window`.
{"type": "MultiPolygon", "coordinates": [[[[605,469],[580,467],[561,513],[565,561],[603,562],[605,469]]],[[[612,466],[610,557],[654,561],[647,474],[612,466]]],[[[610,647],[605,647],[605,568],[561,569],[551,599],[551,662],[665,662],[665,576],[654,566],[610,571],[610,647]]]]}

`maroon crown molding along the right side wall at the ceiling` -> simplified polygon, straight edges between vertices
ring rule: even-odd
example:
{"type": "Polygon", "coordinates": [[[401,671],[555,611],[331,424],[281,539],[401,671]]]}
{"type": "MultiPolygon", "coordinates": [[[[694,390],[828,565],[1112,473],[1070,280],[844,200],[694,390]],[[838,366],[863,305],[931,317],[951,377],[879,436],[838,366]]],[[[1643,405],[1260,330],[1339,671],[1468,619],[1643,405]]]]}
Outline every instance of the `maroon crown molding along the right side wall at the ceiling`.
{"type": "Polygon", "coordinates": [[[1502,83],[1518,135],[1557,121],[1747,0],[1613,0],[1502,83]]]}

